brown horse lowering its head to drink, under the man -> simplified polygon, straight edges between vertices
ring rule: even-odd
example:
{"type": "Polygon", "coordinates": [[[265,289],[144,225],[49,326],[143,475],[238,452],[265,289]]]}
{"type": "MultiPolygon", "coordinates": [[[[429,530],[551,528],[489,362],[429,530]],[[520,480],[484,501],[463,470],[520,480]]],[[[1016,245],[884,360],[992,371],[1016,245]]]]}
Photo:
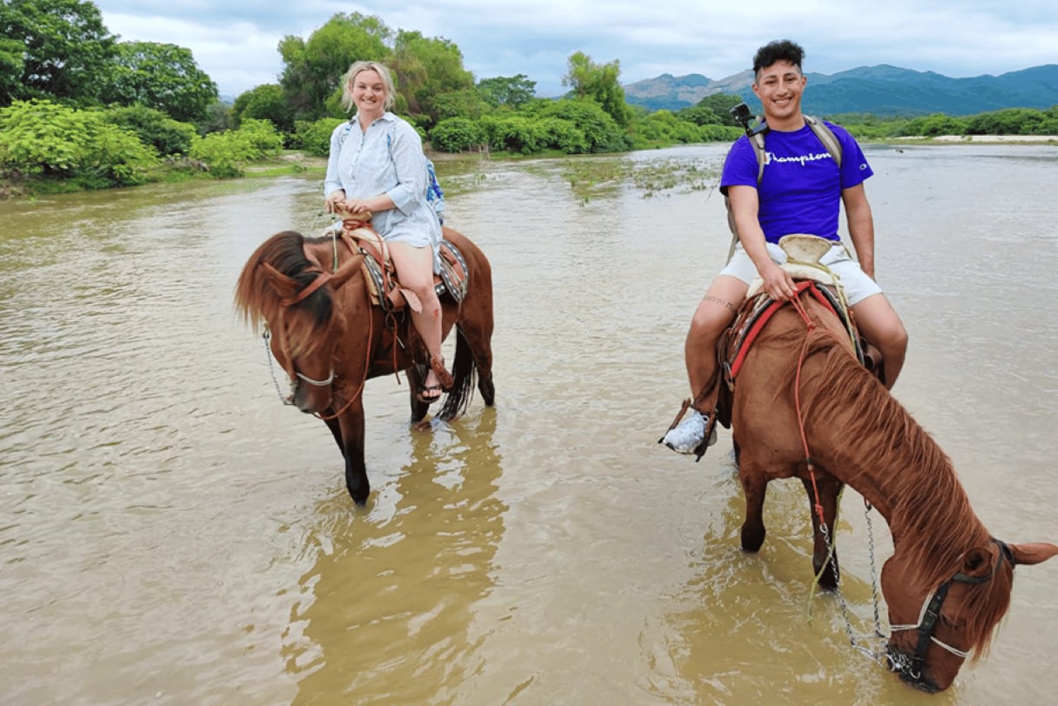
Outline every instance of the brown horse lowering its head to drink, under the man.
{"type": "Polygon", "coordinates": [[[768,482],[798,477],[811,508],[813,565],[824,585],[836,586],[837,564],[827,562],[816,506],[833,538],[838,492],[842,484],[855,488],[893,535],[894,554],[881,573],[890,666],[919,689],[946,689],[967,657],[987,650],[1009,605],[1015,565],[1045,561],[1058,546],[992,539],[951,460],[856,360],[837,318],[810,296],[799,302],[814,326],[783,307],[735,383],[731,428],[746,495],[743,548],[756,551],[764,542],[768,482]]]}

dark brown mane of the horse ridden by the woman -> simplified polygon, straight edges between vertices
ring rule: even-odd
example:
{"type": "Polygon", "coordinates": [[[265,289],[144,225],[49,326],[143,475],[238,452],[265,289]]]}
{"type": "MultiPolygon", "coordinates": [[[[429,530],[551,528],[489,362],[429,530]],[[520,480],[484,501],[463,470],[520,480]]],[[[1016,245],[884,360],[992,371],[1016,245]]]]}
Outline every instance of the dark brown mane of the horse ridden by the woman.
{"type": "Polygon", "coordinates": [[[327,238],[306,238],[295,231],[276,233],[262,242],[247,260],[235,285],[235,308],[254,332],[263,323],[279,321],[284,316],[287,340],[292,356],[309,355],[323,343],[325,337],[316,331],[330,325],[338,315],[338,307],[331,301],[327,287],[290,307],[281,303],[281,295],[272,282],[272,275],[263,265],[269,265],[280,274],[296,283],[297,288],[307,287],[315,279],[316,266],[305,256],[305,245],[313,245],[327,238]],[[286,310],[308,313],[308,316],[286,316],[286,310]]]}

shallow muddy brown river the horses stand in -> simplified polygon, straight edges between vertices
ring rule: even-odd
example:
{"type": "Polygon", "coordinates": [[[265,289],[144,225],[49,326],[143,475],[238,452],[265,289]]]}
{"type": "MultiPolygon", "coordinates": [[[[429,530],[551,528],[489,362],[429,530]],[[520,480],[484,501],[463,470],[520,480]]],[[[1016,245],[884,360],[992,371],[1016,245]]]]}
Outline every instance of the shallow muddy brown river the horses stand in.
{"type": "MultiPolygon", "coordinates": [[[[493,264],[496,406],[413,430],[406,383],[370,381],[364,510],[232,309],[264,237],[323,225],[318,177],[0,203],[0,703],[1052,703],[1058,561],[1018,569],[991,655],[926,696],[850,648],[833,596],[808,621],[800,484],[745,555],[729,433],[700,464],[656,443],[727,253],[724,151],[442,164],[493,264]],[[707,188],[568,181],[631,167],[707,188]]],[[[1058,149],[868,156],[911,336],[894,392],[996,536],[1058,541],[1058,149]]],[[[861,507],[838,543],[865,635],[861,507]]]]}

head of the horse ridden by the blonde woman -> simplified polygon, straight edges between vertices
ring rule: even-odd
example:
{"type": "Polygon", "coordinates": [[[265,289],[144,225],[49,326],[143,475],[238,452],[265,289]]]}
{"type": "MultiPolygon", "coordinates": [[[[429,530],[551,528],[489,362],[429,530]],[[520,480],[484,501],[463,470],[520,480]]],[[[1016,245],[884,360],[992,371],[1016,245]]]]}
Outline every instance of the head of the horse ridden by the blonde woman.
{"type": "Polygon", "coordinates": [[[270,332],[270,347],[290,378],[289,401],[306,413],[331,404],[334,352],[345,330],[333,292],[351,267],[333,275],[307,252],[304,236],[277,233],[250,256],[235,288],[236,308],[256,330],[270,332]]]}

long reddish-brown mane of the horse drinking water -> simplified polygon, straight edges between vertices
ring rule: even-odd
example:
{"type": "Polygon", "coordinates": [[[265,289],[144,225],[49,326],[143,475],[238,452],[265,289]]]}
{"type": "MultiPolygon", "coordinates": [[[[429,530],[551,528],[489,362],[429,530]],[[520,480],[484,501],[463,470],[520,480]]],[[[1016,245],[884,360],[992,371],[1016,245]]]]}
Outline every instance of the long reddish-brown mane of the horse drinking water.
{"type": "MultiPolygon", "coordinates": [[[[849,485],[877,488],[872,476],[890,474],[890,529],[907,557],[908,589],[932,593],[963,571],[965,554],[974,547],[988,547],[995,562],[999,547],[970,507],[951,458],[933,437],[831,331],[811,331],[805,356],[820,357],[823,364],[815,378],[821,384],[802,386],[804,415],[840,420],[836,428],[850,440],[842,454],[853,461],[842,469],[849,485]]],[[[965,621],[974,660],[987,653],[995,628],[1009,608],[1013,579],[1013,567],[1003,561],[990,580],[966,584],[956,619],[965,621]]]]}

